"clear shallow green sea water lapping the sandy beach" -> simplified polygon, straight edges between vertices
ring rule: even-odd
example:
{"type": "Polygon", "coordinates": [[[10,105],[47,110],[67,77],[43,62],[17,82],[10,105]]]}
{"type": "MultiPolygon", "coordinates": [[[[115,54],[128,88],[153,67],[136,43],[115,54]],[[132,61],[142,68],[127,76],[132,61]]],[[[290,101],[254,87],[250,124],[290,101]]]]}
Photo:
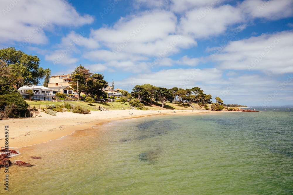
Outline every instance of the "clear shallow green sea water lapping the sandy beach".
{"type": "Polygon", "coordinates": [[[21,148],[11,161],[42,159],[9,168],[9,194],[293,194],[293,108],[264,109],[116,120],[21,148]]]}

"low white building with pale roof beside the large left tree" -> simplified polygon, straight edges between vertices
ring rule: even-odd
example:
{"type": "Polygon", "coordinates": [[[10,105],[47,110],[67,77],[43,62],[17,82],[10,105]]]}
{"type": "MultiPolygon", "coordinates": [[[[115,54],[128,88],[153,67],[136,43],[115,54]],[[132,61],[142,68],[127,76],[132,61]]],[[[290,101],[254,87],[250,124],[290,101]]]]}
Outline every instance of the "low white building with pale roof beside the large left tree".
{"type": "Polygon", "coordinates": [[[32,86],[23,86],[18,89],[18,92],[23,96],[23,98],[28,99],[28,95],[26,92],[28,90],[32,90],[34,92],[34,96],[31,97],[31,99],[34,100],[47,100],[51,101],[52,97],[54,97],[52,89],[49,89],[44,86],[37,86],[37,85],[32,85],[32,86]]]}

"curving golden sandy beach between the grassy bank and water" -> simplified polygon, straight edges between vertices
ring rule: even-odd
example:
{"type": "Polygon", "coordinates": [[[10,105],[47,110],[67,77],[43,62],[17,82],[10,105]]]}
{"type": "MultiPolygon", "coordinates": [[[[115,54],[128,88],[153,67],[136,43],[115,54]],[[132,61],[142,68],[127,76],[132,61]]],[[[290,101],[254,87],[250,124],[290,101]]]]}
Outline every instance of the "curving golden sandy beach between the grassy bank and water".
{"type": "MultiPolygon", "coordinates": [[[[83,115],[77,113],[57,113],[57,116],[41,113],[42,117],[16,118],[1,120],[1,128],[9,127],[9,147],[18,148],[34,144],[44,143],[50,140],[60,139],[63,136],[72,134],[75,130],[88,129],[93,126],[103,125],[110,120],[123,120],[126,118],[143,117],[148,115],[169,115],[169,114],[200,114],[215,111],[193,111],[192,110],[162,110],[141,111],[141,110],[114,110],[114,111],[91,111],[83,115]],[[132,115],[133,113],[133,115],[132,115]]],[[[217,111],[219,112],[219,111],[217,111]]],[[[0,146],[4,146],[4,131],[0,136],[0,146]]]]}

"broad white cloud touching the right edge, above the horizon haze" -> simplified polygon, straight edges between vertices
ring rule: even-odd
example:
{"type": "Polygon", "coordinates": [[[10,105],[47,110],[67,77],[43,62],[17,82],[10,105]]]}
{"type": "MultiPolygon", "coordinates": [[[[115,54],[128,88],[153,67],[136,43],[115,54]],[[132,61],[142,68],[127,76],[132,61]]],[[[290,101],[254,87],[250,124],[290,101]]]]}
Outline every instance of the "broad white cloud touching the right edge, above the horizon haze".
{"type": "Polygon", "coordinates": [[[285,31],[230,42],[214,61],[222,69],[285,74],[293,72],[292,51],[293,33],[285,31]]]}

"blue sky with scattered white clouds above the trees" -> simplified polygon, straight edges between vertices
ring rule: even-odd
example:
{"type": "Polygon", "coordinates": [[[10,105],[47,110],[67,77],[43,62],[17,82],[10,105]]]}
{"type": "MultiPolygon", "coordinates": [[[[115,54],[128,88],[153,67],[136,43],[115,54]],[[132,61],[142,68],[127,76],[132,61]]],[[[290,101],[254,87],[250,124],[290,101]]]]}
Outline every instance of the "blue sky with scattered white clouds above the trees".
{"type": "Polygon", "coordinates": [[[1,0],[0,48],[52,74],[83,65],[115,87],[200,87],[247,106],[293,105],[293,0],[1,0]]]}

